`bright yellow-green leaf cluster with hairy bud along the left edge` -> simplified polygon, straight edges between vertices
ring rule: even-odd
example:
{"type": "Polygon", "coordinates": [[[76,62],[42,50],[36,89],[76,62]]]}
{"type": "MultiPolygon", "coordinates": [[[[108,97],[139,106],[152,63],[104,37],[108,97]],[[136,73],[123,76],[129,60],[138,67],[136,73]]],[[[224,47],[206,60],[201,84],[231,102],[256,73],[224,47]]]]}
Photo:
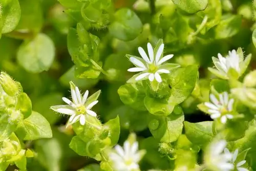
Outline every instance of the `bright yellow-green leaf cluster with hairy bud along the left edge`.
{"type": "Polygon", "coordinates": [[[26,170],[27,157],[34,153],[24,141],[51,138],[50,124],[32,111],[31,100],[20,83],[4,72],[0,74],[0,95],[0,170],[6,170],[10,164],[26,170]]]}

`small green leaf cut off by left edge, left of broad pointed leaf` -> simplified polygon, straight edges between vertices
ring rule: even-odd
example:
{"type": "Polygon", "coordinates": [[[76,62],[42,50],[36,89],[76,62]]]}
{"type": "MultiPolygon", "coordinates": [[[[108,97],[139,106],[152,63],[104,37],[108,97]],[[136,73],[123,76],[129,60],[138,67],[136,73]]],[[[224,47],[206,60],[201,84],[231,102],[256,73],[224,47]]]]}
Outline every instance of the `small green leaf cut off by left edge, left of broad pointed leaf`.
{"type": "Polygon", "coordinates": [[[0,115],[0,141],[7,139],[17,128],[17,125],[8,121],[8,114],[0,115]]]}

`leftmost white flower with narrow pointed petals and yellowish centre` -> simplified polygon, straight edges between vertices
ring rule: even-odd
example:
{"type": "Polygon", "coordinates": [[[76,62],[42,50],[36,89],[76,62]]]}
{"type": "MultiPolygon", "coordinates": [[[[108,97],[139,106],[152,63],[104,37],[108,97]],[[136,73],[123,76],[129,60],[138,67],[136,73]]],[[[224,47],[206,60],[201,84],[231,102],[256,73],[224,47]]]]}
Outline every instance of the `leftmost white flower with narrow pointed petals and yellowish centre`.
{"type": "Polygon", "coordinates": [[[65,101],[68,105],[51,106],[51,109],[61,114],[71,115],[67,126],[77,122],[78,120],[80,121],[81,125],[84,125],[86,123],[87,114],[93,117],[97,116],[95,112],[91,111],[91,108],[98,103],[98,100],[95,100],[86,105],[88,95],[88,90],[82,96],[78,87],[73,89],[71,86],[72,101],[66,97],[62,97],[62,100],[65,101]]]}

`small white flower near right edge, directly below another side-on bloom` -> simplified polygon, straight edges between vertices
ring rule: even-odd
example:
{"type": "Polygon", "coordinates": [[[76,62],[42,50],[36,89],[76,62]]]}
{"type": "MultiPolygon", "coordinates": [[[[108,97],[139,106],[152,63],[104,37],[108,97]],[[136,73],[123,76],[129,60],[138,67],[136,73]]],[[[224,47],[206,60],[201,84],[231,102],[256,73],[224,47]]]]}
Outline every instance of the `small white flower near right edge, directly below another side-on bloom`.
{"type": "Polygon", "coordinates": [[[234,99],[228,99],[227,92],[219,94],[219,100],[215,95],[210,94],[210,101],[204,104],[209,108],[211,119],[221,118],[222,123],[226,123],[227,119],[232,119],[233,115],[230,114],[233,108],[234,99]]]}

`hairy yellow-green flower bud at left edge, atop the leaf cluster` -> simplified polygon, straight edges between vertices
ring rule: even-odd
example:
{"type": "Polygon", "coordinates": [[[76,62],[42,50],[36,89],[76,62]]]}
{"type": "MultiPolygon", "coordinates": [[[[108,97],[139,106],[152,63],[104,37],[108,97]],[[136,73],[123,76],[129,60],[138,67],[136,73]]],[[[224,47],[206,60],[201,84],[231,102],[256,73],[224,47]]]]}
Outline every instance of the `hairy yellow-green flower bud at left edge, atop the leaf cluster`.
{"type": "Polygon", "coordinates": [[[5,72],[0,74],[0,84],[9,96],[15,96],[20,92],[19,84],[5,72]]]}

